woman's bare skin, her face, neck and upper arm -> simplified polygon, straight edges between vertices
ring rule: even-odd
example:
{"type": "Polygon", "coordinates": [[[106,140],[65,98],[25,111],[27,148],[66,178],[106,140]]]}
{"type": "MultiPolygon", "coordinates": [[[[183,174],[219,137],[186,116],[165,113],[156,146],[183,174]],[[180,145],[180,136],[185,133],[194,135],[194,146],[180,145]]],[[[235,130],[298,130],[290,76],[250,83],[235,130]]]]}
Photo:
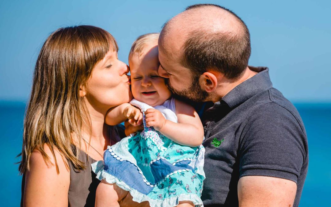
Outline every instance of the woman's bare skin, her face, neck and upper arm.
{"type": "MultiPolygon", "coordinates": [[[[91,138],[90,143],[98,152],[102,153],[110,145],[109,128],[105,125],[107,110],[132,99],[127,73],[128,67],[117,59],[117,52],[109,51],[95,65],[92,75],[85,85],[80,86],[77,94],[84,98],[91,121],[91,133],[82,131],[82,135],[86,140],[91,138]]],[[[102,160],[97,151],[83,141],[81,143],[82,150],[90,157],[102,160]]],[[[67,159],[56,147],[54,155],[47,144],[44,148],[51,165],[45,163],[39,151],[31,153],[30,171],[25,174],[24,206],[49,206],[50,203],[54,206],[68,206],[70,169],[67,159]],[[55,163],[58,164],[59,174],[55,163]]]]}

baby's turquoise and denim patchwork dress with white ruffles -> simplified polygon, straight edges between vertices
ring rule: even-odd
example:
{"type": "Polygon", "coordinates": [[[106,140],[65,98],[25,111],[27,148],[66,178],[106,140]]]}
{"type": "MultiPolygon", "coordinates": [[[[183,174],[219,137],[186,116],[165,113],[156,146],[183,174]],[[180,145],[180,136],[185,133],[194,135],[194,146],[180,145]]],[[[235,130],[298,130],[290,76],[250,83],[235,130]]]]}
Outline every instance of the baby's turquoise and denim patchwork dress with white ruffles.
{"type": "MultiPolygon", "coordinates": [[[[153,107],[135,99],[130,103],[142,110],[144,130],[108,146],[104,162],[92,164],[97,178],[116,183],[130,192],[133,201],[149,201],[150,206],[176,206],[184,200],[203,206],[205,148],[177,144],[146,127],[145,111],[153,107]]],[[[154,108],[177,123],[173,98],[154,108]]]]}

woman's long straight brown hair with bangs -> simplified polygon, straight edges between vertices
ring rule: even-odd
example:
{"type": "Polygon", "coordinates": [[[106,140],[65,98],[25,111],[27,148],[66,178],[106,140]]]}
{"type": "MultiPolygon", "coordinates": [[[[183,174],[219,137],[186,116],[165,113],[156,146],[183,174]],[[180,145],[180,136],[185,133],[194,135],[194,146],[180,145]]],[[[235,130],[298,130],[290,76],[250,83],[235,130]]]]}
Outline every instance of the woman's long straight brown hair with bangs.
{"type": "MultiPolygon", "coordinates": [[[[51,164],[44,144],[49,146],[54,159],[56,147],[73,167],[85,168],[78,160],[81,139],[76,139],[77,144],[73,137],[80,137],[82,126],[91,129],[79,88],[109,50],[118,51],[114,37],[95,26],[60,28],[47,38],[35,65],[24,118],[21,174],[29,170],[29,158],[34,150],[40,151],[47,165],[51,164]]],[[[59,173],[56,159],[55,165],[59,173]]]]}

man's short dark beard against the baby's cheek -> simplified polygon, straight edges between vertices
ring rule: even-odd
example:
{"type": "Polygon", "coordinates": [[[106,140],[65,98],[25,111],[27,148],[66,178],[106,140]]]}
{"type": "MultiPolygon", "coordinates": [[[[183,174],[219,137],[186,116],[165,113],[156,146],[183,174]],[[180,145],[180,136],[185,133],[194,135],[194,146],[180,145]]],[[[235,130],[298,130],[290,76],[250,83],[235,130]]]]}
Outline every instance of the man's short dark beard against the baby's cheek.
{"type": "Polygon", "coordinates": [[[199,84],[199,77],[193,77],[193,81],[191,83],[191,86],[189,88],[185,88],[181,91],[174,89],[169,84],[169,79],[165,79],[166,86],[169,88],[169,90],[173,93],[173,96],[176,99],[183,100],[183,101],[189,101],[189,102],[204,102],[207,101],[207,98],[210,96],[210,94],[203,90],[199,84]]]}

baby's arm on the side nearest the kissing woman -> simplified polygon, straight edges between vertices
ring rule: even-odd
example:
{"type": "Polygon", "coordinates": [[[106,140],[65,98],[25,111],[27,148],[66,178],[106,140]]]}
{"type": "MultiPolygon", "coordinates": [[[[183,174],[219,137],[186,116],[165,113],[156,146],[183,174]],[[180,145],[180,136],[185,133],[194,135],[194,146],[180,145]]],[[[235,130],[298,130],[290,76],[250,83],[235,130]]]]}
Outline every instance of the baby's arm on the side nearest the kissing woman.
{"type": "Polygon", "coordinates": [[[108,125],[115,126],[128,119],[133,126],[142,124],[142,113],[139,109],[129,103],[123,103],[108,110],[105,122],[108,125]]]}

